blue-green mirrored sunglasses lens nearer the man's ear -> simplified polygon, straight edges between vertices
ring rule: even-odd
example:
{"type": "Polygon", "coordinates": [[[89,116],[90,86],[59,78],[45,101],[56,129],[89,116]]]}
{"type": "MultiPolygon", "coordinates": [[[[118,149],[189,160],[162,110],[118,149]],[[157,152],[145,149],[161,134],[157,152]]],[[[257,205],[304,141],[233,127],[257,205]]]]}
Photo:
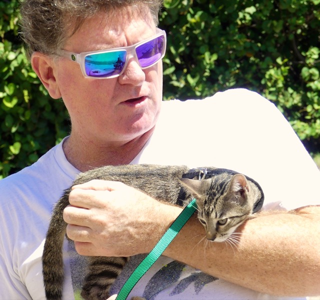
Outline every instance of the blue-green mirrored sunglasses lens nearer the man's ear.
{"type": "Polygon", "coordinates": [[[110,77],[119,74],[124,66],[126,51],[96,53],[85,56],[85,73],[91,77],[110,77]]]}

